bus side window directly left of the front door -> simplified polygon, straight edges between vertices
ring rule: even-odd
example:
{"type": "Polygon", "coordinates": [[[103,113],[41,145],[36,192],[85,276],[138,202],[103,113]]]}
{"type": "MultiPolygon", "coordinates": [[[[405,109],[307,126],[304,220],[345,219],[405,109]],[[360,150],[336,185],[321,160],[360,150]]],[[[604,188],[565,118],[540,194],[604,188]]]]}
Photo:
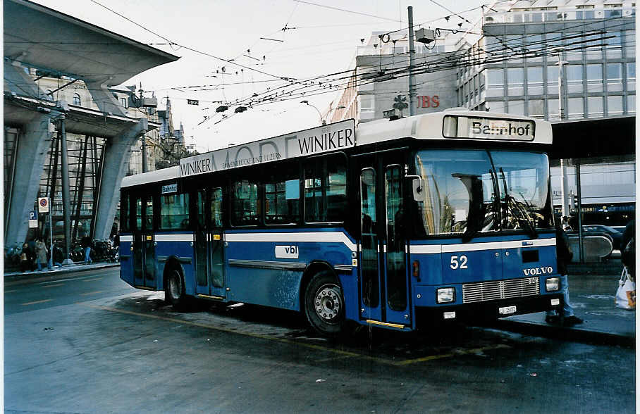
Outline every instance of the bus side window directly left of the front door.
{"type": "Polygon", "coordinates": [[[304,221],[341,222],[347,207],[343,154],[311,159],[304,167],[304,221]]]}

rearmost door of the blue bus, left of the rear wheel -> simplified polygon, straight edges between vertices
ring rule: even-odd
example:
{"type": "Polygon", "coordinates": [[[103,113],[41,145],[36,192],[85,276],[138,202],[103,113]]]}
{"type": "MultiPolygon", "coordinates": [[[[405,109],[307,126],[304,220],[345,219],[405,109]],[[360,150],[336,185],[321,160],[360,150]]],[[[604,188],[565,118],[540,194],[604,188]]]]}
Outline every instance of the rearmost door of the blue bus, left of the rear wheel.
{"type": "Polygon", "coordinates": [[[133,277],[135,287],[156,287],[156,249],[154,240],[154,203],[152,196],[133,199],[133,277]]]}

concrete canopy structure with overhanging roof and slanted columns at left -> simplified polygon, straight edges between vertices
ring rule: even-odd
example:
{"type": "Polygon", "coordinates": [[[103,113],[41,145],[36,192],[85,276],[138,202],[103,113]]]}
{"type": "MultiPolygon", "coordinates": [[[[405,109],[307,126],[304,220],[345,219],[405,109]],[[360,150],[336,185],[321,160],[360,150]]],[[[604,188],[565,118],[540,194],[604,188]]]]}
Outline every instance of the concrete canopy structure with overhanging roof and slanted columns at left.
{"type": "MultiPolygon", "coordinates": [[[[24,0],[4,2],[4,125],[19,131],[12,144],[11,191],[5,194],[5,245],[24,242],[28,212],[34,208],[42,168],[55,129],[61,141],[62,198],[67,247],[69,183],[66,132],[106,139],[101,155],[92,236],[109,237],[128,150],[136,139],[159,127],[147,118],[131,118],[109,91],[149,68],[178,56],[136,42],[51,8],[24,0]],[[28,75],[35,68],[61,77],[61,83],[82,80],[96,109],[52,100],[28,75]]],[[[6,137],[5,137],[6,143],[6,137]]]]}

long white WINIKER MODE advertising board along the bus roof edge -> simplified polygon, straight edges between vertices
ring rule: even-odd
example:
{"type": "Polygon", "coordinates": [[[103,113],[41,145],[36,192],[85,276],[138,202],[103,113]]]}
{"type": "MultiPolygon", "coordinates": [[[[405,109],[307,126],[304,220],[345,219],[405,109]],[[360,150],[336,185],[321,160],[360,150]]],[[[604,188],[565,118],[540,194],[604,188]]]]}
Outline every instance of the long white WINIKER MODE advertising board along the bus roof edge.
{"type": "Polygon", "coordinates": [[[180,177],[206,174],[355,146],[355,121],[322,125],[180,160],[180,177]]]}

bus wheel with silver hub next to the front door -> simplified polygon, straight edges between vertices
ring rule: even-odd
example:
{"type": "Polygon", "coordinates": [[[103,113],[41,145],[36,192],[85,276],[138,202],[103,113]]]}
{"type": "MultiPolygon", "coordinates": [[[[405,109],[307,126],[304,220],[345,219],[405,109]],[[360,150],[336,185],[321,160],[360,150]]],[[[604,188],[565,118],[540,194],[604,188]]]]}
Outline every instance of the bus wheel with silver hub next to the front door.
{"type": "Polygon", "coordinates": [[[304,314],[319,334],[336,337],[345,325],[345,299],[329,272],[314,275],[304,291],[304,314]]]}

